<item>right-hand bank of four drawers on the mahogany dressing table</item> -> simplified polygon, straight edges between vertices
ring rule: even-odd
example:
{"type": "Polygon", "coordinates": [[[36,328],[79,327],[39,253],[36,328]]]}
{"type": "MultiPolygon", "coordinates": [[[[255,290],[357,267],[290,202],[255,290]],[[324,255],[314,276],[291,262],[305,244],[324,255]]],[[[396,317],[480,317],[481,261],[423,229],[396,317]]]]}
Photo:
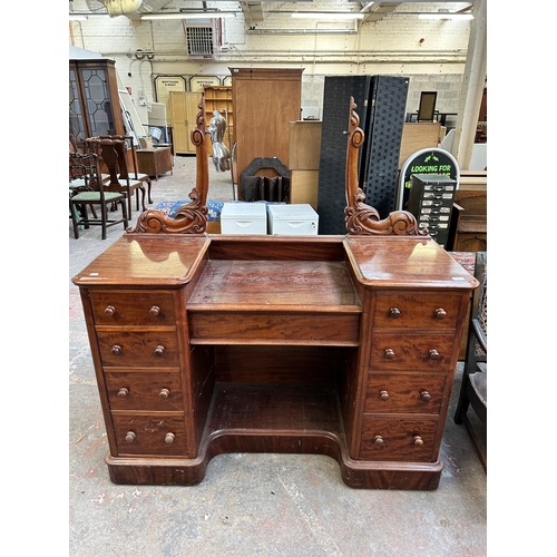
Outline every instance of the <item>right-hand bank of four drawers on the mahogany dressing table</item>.
{"type": "Polygon", "coordinates": [[[360,456],[436,461],[461,296],[389,292],[375,299],[360,456]]]}

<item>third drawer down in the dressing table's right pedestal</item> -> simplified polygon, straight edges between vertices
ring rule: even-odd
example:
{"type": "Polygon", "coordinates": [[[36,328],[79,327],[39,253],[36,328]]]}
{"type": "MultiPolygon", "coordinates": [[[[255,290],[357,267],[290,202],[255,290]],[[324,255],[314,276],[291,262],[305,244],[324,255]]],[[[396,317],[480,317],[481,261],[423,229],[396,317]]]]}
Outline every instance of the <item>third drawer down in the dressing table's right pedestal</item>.
{"type": "Polygon", "coordinates": [[[444,374],[372,373],[363,411],[439,414],[446,381],[444,374]]]}

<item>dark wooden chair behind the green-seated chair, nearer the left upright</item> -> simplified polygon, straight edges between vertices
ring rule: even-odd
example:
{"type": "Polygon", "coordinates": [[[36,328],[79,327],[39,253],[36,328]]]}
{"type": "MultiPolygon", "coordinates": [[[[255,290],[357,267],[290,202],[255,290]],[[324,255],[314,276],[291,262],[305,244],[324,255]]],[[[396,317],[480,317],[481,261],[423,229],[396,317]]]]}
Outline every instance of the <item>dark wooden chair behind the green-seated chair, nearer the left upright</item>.
{"type": "MultiPolygon", "coordinates": [[[[145,186],[141,180],[129,176],[126,160],[126,146],[123,139],[90,138],[90,144],[97,144],[95,148],[100,149],[100,156],[107,167],[108,177],[102,176],[106,192],[124,192],[128,199],[128,217],[131,217],[131,196],[137,190],[141,192],[141,206],[145,206],[145,186]],[[94,140],[91,140],[94,139],[94,140]]],[[[139,196],[136,197],[137,211],[139,211],[139,196]]]]}

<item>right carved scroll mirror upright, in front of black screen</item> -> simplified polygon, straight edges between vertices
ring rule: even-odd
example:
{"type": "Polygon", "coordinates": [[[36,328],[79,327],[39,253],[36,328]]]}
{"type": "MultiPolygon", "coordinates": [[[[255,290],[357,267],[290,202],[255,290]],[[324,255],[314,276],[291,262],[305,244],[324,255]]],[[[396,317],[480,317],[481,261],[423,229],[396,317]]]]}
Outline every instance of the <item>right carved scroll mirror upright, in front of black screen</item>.
{"type": "Polygon", "coordinates": [[[346,147],[346,208],[344,209],[346,231],[350,235],[390,235],[426,236],[427,229],[420,231],[416,217],[408,211],[393,211],[382,221],[378,211],[363,203],[365,194],[358,187],[358,152],[363,144],[364,134],[359,127],[358,106],[350,98],[349,140],[346,147]]]}

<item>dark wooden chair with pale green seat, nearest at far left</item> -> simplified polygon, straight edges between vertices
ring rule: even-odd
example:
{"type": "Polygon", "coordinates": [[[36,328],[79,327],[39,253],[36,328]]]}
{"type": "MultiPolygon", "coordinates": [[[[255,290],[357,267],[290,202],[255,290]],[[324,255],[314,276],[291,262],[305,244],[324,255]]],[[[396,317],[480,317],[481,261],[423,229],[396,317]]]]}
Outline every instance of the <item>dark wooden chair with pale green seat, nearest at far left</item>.
{"type": "Polygon", "coordinates": [[[74,236],[79,238],[79,225],[89,228],[90,225],[101,226],[101,237],[106,240],[108,226],[123,223],[124,229],[128,226],[126,213],[126,194],[121,192],[106,192],[100,177],[99,160],[95,153],[70,153],[69,155],[69,185],[70,185],[70,217],[74,225],[74,236]],[[121,205],[121,218],[108,218],[110,205],[121,205]],[[100,205],[100,217],[92,211],[92,217],[87,208],[100,205]]]}

